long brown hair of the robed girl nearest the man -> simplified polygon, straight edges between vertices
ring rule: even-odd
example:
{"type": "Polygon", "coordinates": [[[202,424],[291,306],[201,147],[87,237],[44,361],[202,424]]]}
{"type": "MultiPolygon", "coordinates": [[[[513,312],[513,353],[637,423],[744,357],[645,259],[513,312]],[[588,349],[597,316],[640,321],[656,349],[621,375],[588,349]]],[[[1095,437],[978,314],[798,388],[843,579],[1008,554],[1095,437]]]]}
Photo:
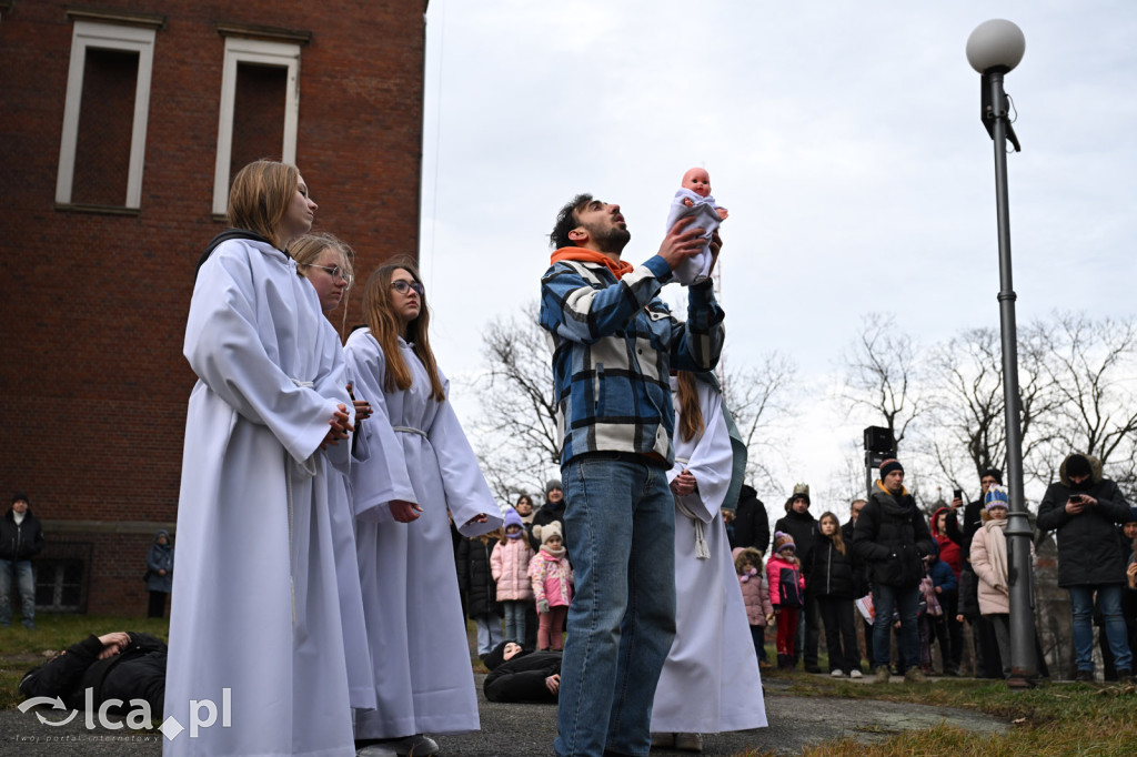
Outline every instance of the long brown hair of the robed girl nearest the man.
{"type": "Polygon", "coordinates": [[[399,319],[395,316],[391,306],[391,277],[396,271],[406,271],[420,284],[422,278],[410,263],[389,263],[380,266],[367,280],[367,286],[363,292],[363,315],[371,328],[371,335],[375,338],[383,349],[383,357],[387,360],[387,371],[383,376],[383,391],[395,392],[410,389],[414,374],[410,366],[402,359],[399,350],[399,336],[413,344],[412,350],[426,368],[430,376],[431,399],[439,402],[446,399],[442,389],[442,380],[438,375],[438,364],[434,361],[434,352],[430,349],[428,331],[430,326],[430,309],[426,307],[426,296],[420,297],[422,308],[418,317],[407,324],[404,333],[399,333],[399,319]]]}

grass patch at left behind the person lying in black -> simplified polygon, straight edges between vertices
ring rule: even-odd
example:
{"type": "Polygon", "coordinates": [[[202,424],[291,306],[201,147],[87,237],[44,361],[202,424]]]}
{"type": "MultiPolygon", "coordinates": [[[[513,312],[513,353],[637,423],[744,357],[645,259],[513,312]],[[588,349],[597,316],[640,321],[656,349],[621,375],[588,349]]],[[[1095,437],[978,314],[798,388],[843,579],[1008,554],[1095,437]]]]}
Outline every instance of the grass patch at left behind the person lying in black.
{"type": "Polygon", "coordinates": [[[45,663],[51,655],[82,641],[88,634],[101,637],[111,631],[142,631],[169,639],[169,621],[164,618],[100,615],[35,616],[36,629],[28,630],[14,621],[0,629],[0,708],[15,707],[24,700],[17,687],[24,673],[45,663]]]}

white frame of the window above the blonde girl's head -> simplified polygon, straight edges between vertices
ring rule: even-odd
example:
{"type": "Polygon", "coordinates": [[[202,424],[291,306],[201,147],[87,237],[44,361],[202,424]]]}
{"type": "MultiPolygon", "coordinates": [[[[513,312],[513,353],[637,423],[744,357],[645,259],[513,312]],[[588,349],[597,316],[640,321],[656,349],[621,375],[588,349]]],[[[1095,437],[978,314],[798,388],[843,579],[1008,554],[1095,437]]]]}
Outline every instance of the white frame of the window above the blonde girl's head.
{"type": "Polygon", "coordinates": [[[240,36],[225,38],[225,64],[221,80],[221,115],[217,123],[217,164],[214,166],[213,213],[229,210],[229,164],[233,159],[233,111],[236,106],[238,64],[288,69],[284,84],[284,143],[281,160],[296,164],[297,125],[300,122],[300,45],[240,36]]]}

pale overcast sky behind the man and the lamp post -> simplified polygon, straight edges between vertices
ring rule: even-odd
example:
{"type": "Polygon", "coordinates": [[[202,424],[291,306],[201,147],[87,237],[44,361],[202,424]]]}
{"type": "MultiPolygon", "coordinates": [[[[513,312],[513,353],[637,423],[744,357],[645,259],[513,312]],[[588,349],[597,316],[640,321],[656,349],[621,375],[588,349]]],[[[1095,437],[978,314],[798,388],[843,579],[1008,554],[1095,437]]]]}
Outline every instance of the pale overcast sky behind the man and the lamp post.
{"type": "MultiPolygon", "coordinates": [[[[692,166],[731,213],[731,364],[778,350],[823,389],[863,314],[929,343],[997,327],[993,143],[964,56],[989,18],[1027,39],[1006,77],[1019,321],[1128,316],[1137,2],[432,0],[421,260],[459,414],[483,324],[538,297],[559,206],[619,202],[638,264],[692,166]]],[[[841,423],[799,418],[791,481],[825,489],[864,425],[841,423]]]]}

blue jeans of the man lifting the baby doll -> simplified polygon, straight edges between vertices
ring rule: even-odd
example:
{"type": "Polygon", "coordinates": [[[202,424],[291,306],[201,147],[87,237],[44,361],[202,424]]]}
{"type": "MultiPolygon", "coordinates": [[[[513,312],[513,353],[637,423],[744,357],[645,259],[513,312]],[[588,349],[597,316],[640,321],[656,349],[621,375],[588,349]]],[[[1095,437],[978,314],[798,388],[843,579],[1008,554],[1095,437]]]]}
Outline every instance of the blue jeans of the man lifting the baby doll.
{"type": "Polygon", "coordinates": [[[675,637],[675,501],[662,468],[571,460],[562,472],[576,593],[561,665],[559,757],[647,755],[675,637]]]}

